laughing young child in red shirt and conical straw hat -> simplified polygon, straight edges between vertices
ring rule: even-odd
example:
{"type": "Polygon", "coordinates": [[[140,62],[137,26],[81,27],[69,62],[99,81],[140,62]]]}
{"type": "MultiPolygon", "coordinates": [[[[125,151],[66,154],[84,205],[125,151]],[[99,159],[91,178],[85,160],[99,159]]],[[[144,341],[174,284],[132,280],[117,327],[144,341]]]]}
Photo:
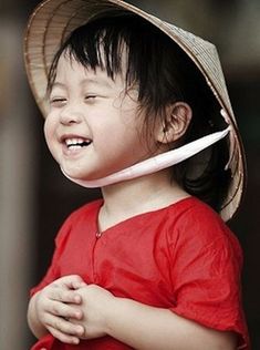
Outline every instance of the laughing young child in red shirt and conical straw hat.
{"type": "Polygon", "coordinates": [[[119,0],[48,0],[24,51],[53,157],[103,195],[31,291],[33,349],[249,349],[225,224],[245,159],[215,47],[119,0]]]}

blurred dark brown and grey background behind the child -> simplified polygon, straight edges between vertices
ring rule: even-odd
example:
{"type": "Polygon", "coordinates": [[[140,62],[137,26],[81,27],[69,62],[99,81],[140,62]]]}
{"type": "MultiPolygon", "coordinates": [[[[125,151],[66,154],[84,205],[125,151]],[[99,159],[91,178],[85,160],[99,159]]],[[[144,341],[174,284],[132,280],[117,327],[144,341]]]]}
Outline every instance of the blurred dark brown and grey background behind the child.
{"type": "MultiPolygon", "coordinates": [[[[245,251],[243,305],[260,349],[260,1],[131,1],[212,41],[219,51],[248,161],[248,189],[229,223],[245,251]]],[[[67,214],[98,196],[65,179],[43,140],[27,83],[22,37],[39,1],[0,2],[0,349],[29,349],[28,291],[42,277],[67,214]]],[[[210,350],[210,349],[209,349],[210,350]]]]}

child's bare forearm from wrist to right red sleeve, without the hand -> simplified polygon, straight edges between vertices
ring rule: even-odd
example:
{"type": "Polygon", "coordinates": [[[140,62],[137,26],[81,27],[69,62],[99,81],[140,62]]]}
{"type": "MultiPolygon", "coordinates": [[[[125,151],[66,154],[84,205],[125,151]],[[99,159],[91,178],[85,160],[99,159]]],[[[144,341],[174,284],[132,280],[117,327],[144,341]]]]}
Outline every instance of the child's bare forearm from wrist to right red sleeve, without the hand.
{"type": "Polygon", "coordinates": [[[187,320],[176,313],[129,299],[115,299],[107,309],[107,332],[142,350],[235,350],[236,337],[187,320]]]}

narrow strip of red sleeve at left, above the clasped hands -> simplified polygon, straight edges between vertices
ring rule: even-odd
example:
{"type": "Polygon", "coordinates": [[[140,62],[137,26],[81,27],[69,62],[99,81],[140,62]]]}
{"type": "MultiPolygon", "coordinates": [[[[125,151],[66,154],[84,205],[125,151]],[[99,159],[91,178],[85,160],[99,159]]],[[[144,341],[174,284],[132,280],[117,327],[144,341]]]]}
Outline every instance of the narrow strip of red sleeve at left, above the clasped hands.
{"type": "Polygon", "coordinates": [[[37,291],[43,289],[45,286],[53,282],[55,279],[60,278],[59,259],[66,244],[66,239],[72,227],[72,215],[64,222],[61,229],[59,230],[55,238],[55,250],[52,257],[51,265],[43,279],[34,288],[30,290],[30,296],[32,297],[37,291]]]}

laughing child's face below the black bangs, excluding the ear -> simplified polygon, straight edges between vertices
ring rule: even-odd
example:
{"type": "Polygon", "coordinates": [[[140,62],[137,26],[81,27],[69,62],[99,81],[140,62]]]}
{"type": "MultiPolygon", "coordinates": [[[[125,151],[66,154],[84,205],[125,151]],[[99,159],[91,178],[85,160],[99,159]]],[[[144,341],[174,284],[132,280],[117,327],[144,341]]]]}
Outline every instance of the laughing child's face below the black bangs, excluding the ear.
{"type": "Polygon", "coordinates": [[[101,178],[157,151],[156,140],[142,137],[137,90],[126,94],[122,75],[113,81],[101,69],[94,72],[60,58],[44,133],[53,157],[69,176],[101,178]]]}

